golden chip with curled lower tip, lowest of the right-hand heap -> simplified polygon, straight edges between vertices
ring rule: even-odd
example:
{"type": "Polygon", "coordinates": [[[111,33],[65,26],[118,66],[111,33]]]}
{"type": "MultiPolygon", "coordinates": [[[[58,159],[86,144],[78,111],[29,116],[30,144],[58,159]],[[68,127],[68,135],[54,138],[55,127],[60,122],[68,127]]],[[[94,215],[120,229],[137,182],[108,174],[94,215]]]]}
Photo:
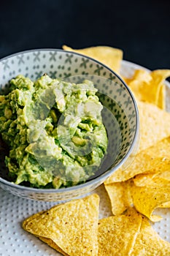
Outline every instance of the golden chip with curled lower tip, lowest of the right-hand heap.
{"type": "Polygon", "coordinates": [[[170,201],[170,186],[164,187],[137,187],[131,186],[131,195],[134,207],[152,222],[158,222],[162,218],[152,215],[155,208],[159,208],[163,203],[170,201]]]}

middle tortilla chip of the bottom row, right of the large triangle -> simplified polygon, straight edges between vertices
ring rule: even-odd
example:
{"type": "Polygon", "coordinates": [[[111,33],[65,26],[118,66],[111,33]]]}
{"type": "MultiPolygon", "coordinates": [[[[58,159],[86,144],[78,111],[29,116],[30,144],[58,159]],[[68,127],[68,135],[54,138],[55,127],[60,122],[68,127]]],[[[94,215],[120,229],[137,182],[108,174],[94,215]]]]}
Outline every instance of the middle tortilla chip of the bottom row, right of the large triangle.
{"type": "Polygon", "coordinates": [[[142,217],[132,213],[100,219],[98,222],[98,256],[131,255],[142,217]]]}

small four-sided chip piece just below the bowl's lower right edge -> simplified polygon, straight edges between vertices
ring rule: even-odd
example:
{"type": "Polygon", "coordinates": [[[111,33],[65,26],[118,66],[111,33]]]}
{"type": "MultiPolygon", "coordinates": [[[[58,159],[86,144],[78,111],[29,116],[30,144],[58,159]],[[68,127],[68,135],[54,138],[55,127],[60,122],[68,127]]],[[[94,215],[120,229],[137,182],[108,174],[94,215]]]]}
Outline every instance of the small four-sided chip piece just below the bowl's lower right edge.
{"type": "Polygon", "coordinates": [[[133,204],[131,197],[131,181],[104,184],[112,206],[112,214],[120,215],[133,204]]]}

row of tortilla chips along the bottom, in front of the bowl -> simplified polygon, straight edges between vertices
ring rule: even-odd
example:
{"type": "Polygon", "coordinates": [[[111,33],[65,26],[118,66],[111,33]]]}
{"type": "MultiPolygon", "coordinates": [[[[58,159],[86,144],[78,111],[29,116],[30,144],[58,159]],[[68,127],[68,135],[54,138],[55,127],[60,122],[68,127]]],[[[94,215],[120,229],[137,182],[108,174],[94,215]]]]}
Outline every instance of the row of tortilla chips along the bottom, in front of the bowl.
{"type": "Polygon", "coordinates": [[[63,255],[168,255],[170,244],[134,208],[98,219],[97,194],[72,200],[23,221],[23,229],[63,255]]]}

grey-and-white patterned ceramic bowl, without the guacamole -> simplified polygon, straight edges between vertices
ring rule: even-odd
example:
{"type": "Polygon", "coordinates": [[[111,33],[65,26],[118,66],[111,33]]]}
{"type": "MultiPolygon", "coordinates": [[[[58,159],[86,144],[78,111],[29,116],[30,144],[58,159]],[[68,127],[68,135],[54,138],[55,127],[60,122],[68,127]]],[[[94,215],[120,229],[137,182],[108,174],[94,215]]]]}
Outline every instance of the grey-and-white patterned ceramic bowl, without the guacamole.
{"type": "Polygon", "coordinates": [[[36,80],[44,73],[51,78],[77,82],[80,78],[93,80],[98,97],[104,105],[102,116],[107,129],[109,145],[107,156],[96,175],[84,184],[63,189],[35,189],[8,181],[4,165],[4,149],[1,150],[0,187],[13,195],[33,200],[61,201],[91,192],[122,165],[136,149],[139,138],[139,115],[131,91],[111,69],[94,59],[64,50],[27,50],[7,56],[0,61],[0,89],[4,93],[9,80],[22,74],[36,80]]]}

